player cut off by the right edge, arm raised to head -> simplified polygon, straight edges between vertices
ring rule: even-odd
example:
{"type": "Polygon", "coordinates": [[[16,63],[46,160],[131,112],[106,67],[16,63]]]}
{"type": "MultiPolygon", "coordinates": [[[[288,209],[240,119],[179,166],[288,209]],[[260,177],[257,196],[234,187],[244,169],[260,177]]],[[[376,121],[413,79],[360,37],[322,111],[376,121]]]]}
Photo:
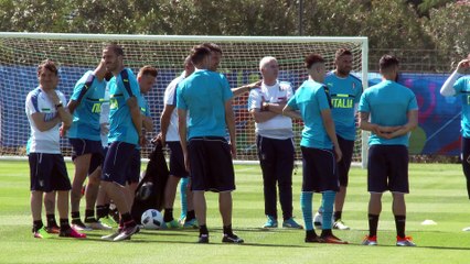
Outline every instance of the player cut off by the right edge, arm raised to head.
{"type": "MultiPolygon", "coordinates": [[[[470,69],[470,54],[467,58],[459,62],[456,70],[447,78],[440,88],[440,95],[445,97],[460,97],[462,100],[461,116],[461,161],[463,175],[467,179],[467,191],[470,199],[470,75],[464,75],[466,69],[470,69]]],[[[470,231],[470,228],[464,228],[463,231],[470,231]]]]}

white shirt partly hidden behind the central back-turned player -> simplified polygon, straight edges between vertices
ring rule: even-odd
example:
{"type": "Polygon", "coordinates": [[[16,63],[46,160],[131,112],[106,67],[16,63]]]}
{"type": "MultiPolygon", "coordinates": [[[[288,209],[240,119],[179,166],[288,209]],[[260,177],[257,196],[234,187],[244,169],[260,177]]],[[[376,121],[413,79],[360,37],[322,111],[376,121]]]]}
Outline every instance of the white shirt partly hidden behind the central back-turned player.
{"type": "MultiPolygon", "coordinates": [[[[184,72],[173,79],[164,90],[163,103],[168,106],[177,107],[177,87],[184,79],[184,72]]],[[[188,116],[189,117],[189,116],[188,116]]],[[[170,118],[170,125],[167,131],[167,142],[180,141],[180,134],[178,132],[178,110],[173,109],[170,118]]]]}

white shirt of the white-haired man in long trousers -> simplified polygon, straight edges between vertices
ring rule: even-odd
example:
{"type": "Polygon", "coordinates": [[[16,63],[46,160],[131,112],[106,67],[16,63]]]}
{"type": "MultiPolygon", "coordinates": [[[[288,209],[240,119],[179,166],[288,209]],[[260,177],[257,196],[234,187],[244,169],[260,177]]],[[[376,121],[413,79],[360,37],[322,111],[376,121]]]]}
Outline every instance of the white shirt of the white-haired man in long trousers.
{"type": "MultiPolygon", "coordinates": [[[[276,80],[274,86],[261,84],[259,89],[249,92],[248,110],[261,109],[263,102],[287,102],[292,97],[292,86],[287,81],[276,80]]],[[[293,136],[292,120],[277,114],[263,123],[255,123],[256,134],[265,138],[286,140],[293,136]]]]}

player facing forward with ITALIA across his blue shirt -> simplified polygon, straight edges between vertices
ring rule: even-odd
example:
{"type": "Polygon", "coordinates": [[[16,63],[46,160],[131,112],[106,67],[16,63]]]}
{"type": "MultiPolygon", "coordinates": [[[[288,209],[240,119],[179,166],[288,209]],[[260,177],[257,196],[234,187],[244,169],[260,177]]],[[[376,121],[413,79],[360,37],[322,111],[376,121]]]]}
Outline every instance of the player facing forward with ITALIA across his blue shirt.
{"type": "MultiPolygon", "coordinates": [[[[334,55],[335,69],[324,78],[324,84],[330,90],[331,114],[334,121],[338,143],[340,144],[343,158],[338,162],[337,173],[340,179],[340,191],[334,198],[333,228],[349,230],[350,228],[341,220],[344,199],[346,196],[349,172],[354,152],[354,140],[356,134],[355,116],[359,100],[362,95],[362,82],[351,74],[353,54],[346,48],[339,48],[334,55]]],[[[320,208],[313,218],[316,226],[321,227],[320,208]]]]}

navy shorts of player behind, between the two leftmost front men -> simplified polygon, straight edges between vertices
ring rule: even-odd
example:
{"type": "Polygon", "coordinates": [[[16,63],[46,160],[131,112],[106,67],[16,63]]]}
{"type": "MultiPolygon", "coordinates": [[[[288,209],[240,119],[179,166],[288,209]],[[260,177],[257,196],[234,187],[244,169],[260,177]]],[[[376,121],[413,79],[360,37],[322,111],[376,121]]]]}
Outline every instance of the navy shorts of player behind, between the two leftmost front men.
{"type": "Polygon", "coordinates": [[[102,141],[92,141],[85,139],[68,139],[68,141],[73,147],[72,161],[74,161],[77,156],[92,154],[88,175],[95,172],[97,167],[102,166],[103,161],[105,160],[102,141]]]}

